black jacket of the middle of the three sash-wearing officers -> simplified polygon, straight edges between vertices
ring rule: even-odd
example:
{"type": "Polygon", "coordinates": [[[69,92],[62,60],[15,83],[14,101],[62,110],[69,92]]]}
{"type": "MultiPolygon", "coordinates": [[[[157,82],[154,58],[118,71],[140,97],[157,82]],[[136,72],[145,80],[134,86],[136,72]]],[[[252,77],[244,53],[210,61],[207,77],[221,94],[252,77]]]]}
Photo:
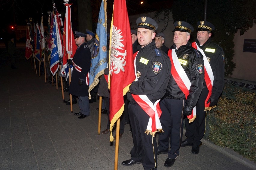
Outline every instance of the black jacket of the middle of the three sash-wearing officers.
{"type": "MultiPolygon", "coordinates": [[[[170,49],[176,49],[176,45],[173,45],[170,49]]],[[[180,46],[180,48],[175,51],[178,59],[187,61],[186,65],[181,64],[191,82],[186,104],[195,106],[201,94],[204,81],[204,71],[202,74],[197,71],[197,65],[203,65],[203,55],[198,50],[191,47],[190,42],[187,42],[187,45],[180,46]]],[[[175,82],[173,76],[170,78],[165,98],[186,99],[185,94],[178,87],[178,84],[175,82]]]]}

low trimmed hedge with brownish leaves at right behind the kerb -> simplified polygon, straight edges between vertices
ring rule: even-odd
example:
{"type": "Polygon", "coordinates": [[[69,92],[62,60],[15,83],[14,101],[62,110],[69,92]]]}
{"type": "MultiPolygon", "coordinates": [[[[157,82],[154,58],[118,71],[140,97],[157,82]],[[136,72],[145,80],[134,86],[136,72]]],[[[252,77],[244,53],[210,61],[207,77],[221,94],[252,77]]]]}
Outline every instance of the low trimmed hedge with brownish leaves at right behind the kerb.
{"type": "Polygon", "coordinates": [[[256,162],[255,111],[254,91],[225,84],[217,108],[207,113],[205,138],[256,162]]]}

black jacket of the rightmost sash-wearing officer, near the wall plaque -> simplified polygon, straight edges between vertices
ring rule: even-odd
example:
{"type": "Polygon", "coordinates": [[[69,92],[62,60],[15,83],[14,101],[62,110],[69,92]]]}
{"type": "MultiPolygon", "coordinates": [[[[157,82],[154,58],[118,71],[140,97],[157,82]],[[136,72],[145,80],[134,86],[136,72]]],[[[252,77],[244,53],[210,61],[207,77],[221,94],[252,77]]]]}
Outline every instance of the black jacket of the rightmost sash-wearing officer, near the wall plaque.
{"type": "Polygon", "coordinates": [[[211,98],[218,99],[224,86],[224,51],[220,46],[212,42],[212,38],[209,38],[202,46],[200,46],[198,40],[196,40],[196,43],[204,51],[212,68],[214,81],[211,98]]]}

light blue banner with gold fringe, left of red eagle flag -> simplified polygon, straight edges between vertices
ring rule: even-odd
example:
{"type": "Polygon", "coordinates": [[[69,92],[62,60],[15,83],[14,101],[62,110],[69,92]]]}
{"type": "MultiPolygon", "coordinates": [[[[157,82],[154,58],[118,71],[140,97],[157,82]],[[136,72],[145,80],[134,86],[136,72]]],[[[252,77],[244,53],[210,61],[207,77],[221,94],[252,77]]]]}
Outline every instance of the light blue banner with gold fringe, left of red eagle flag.
{"type": "Polygon", "coordinates": [[[99,83],[99,77],[107,68],[107,22],[104,5],[107,4],[102,0],[91,59],[89,92],[99,83]]]}

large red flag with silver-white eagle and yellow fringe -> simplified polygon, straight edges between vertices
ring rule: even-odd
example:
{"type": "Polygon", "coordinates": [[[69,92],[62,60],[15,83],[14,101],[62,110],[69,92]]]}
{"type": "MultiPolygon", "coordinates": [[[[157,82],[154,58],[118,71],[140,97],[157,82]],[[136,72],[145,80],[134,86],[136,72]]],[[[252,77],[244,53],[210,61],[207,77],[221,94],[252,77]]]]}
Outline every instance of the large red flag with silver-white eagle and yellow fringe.
{"type": "Polygon", "coordinates": [[[135,80],[133,47],[126,1],[115,0],[110,30],[110,141],[114,140],[112,130],[114,123],[124,110],[123,95],[127,93],[135,80]]]}

